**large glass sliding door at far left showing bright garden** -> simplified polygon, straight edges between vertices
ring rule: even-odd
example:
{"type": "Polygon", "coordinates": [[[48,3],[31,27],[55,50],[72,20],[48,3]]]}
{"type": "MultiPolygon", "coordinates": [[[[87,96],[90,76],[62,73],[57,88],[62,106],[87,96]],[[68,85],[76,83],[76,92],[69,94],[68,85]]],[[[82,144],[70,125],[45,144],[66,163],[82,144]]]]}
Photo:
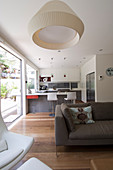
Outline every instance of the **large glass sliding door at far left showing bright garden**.
{"type": "Polygon", "coordinates": [[[21,59],[0,47],[1,114],[7,126],[22,115],[21,59]]]}

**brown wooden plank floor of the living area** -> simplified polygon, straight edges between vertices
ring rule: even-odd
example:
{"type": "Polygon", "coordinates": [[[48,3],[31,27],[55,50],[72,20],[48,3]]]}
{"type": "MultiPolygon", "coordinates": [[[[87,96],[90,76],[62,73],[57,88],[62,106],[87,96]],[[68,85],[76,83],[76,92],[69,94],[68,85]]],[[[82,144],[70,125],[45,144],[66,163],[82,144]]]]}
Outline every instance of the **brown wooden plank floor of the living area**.
{"type": "Polygon", "coordinates": [[[113,157],[113,146],[58,147],[56,157],[54,118],[49,117],[49,113],[30,113],[11,131],[34,137],[29,153],[12,170],[31,157],[38,158],[54,170],[89,170],[91,159],[113,157]]]}

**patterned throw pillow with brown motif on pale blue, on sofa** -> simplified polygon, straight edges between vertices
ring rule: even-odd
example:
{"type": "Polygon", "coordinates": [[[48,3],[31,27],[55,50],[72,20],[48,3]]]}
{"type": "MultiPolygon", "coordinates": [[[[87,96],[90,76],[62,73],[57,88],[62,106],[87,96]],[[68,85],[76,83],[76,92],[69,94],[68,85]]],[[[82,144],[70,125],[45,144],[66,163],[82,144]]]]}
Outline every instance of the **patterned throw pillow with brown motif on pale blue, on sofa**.
{"type": "Polygon", "coordinates": [[[88,124],[94,123],[92,119],[92,108],[91,106],[82,107],[82,108],[70,108],[71,114],[75,124],[88,124]]]}

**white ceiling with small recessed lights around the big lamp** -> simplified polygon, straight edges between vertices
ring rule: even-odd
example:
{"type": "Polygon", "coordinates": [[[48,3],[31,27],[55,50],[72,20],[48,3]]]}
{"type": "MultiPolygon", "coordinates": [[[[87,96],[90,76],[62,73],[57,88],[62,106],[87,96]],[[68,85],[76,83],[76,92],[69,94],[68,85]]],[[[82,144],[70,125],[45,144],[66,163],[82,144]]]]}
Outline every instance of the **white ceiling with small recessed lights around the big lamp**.
{"type": "Polygon", "coordinates": [[[85,29],[78,44],[60,52],[37,46],[28,33],[29,21],[47,1],[0,0],[0,35],[38,68],[74,68],[95,54],[113,54],[113,0],[62,0],[85,29]]]}

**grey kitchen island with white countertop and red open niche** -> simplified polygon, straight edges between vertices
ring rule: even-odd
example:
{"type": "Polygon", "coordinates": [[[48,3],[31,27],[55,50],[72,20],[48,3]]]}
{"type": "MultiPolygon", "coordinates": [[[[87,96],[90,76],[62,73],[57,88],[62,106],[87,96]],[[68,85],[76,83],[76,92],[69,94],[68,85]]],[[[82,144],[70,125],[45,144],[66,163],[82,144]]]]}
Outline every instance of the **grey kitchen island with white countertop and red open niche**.
{"type": "MultiPolygon", "coordinates": [[[[77,89],[73,92],[76,92],[77,100],[81,100],[81,90],[77,89]]],[[[40,91],[38,93],[27,94],[27,113],[36,113],[36,112],[51,112],[52,111],[52,102],[47,100],[47,95],[49,93],[56,93],[58,101],[54,102],[54,107],[56,104],[65,103],[64,98],[67,97],[67,92],[60,91],[40,91]],[[31,97],[30,97],[31,96],[31,97]]],[[[68,101],[70,102],[70,101],[68,101]]]]}

